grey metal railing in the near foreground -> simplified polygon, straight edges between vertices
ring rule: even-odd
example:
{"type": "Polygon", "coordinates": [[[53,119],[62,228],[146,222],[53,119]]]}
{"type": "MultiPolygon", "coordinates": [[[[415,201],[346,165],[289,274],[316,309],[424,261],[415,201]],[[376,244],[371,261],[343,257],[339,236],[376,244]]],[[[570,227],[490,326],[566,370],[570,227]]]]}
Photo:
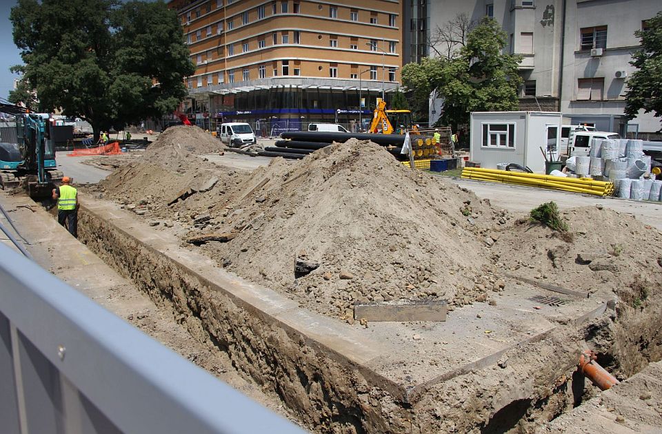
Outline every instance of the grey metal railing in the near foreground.
{"type": "Polygon", "coordinates": [[[3,433],[301,433],[0,243],[3,433]]]}

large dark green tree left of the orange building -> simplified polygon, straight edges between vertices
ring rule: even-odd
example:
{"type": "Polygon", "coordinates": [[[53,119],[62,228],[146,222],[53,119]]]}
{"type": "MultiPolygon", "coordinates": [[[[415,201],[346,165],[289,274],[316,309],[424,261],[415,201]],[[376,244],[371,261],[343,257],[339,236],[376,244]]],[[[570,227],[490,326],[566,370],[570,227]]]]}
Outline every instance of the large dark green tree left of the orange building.
{"type": "Polygon", "coordinates": [[[172,112],[186,95],[194,65],[163,1],[19,0],[10,20],[39,110],[83,118],[95,137],[172,112]]]}

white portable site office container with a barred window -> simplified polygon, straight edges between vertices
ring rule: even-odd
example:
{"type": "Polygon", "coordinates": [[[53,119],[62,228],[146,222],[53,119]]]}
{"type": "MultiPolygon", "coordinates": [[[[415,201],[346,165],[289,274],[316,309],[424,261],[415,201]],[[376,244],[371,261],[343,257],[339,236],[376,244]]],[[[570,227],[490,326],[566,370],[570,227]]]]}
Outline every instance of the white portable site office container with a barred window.
{"type": "Polygon", "coordinates": [[[562,120],[560,112],[472,112],[471,161],[488,169],[516,163],[545,173],[540,147],[558,159],[562,120]]]}

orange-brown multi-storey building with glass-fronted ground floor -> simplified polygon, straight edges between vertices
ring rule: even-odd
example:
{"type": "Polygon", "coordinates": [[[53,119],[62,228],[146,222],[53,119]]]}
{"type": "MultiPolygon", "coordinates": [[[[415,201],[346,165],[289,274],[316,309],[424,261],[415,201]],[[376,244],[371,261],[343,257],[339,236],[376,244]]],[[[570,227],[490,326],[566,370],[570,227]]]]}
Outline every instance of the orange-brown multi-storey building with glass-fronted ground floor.
{"type": "Polygon", "coordinates": [[[358,128],[377,98],[389,101],[399,88],[399,0],[172,0],[168,7],[177,10],[196,65],[184,109],[203,127],[246,121],[273,134],[339,121],[358,128]]]}

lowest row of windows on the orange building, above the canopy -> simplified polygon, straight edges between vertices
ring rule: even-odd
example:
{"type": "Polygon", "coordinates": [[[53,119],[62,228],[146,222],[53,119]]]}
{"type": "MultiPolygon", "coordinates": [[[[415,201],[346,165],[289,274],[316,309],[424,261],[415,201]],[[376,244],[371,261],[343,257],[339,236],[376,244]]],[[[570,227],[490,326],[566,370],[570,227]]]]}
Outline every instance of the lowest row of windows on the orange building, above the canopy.
{"type": "MultiPolygon", "coordinates": [[[[274,62],[274,65],[276,65],[274,68],[272,68],[272,72],[274,77],[279,76],[279,68],[277,68],[277,63],[274,62]]],[[[292,61],[292,74],[290,74],[290,61],[289,60],[283,60],[281,61],[281,68],[280,68],[280,75],[281,76],[300,76],[301,75],[301,63],[300,61],[292,61]]],[[[352,70],[356,70],[357,67],[356,65],[352,65],[352,70]]],[[[323,70],[323,67],[319,66],[318,70],[321,71],[323,70]]],[[[235,83],[235,73],[238,71],[233,69],[230,69],[227,71],[228,73],[228,83],[235,83]]],[[[250,68],[243,68],[241,70],[241,79],[243,81],[249,81],[251,79],[254,79],[255,77],[251,77],[250,74],[251,69],[250,68]]],[[[369,70],[365,70],[363,72],[370,72],[370,80],[376,81],[378,78],[378,67],[376,65],[370,66],[369,70]]],[[[331,63],[329,65],[329,77],[332,79],[335,79],[338,77],[338,64],[337,63],[331,63]]],[[[361,74],[363,74],[361,72],[361,74]]],[[[388,81],[395,81],[396,80],[396,74],[395,74],[395,68],[388,68],[386,71],[388,73],[388,81]]],[[[197,86],[196,87],[202,87],[203,85],[211,86],[214,84],[214,75],[217,75],[217,82],[215,84],[223,84],[223,76],[224,73],[223,71],[220,71],[216,74],[207,74],[206,76],[198,76],[197,77],[197,86]],[[203,81],[205,81],[205,84],[203,84],[203,81]]],[[[267,76],[267,65],[258,65],[257,67],[257,79],[265,79],[267,76]]],[[[359,79],[359,74],[358,73],[350,73],[350,79],[359,79]]],[[[189,77],[188,79],[188,87],[192,88],[193,87],[193,79],[189,77]]]]}

